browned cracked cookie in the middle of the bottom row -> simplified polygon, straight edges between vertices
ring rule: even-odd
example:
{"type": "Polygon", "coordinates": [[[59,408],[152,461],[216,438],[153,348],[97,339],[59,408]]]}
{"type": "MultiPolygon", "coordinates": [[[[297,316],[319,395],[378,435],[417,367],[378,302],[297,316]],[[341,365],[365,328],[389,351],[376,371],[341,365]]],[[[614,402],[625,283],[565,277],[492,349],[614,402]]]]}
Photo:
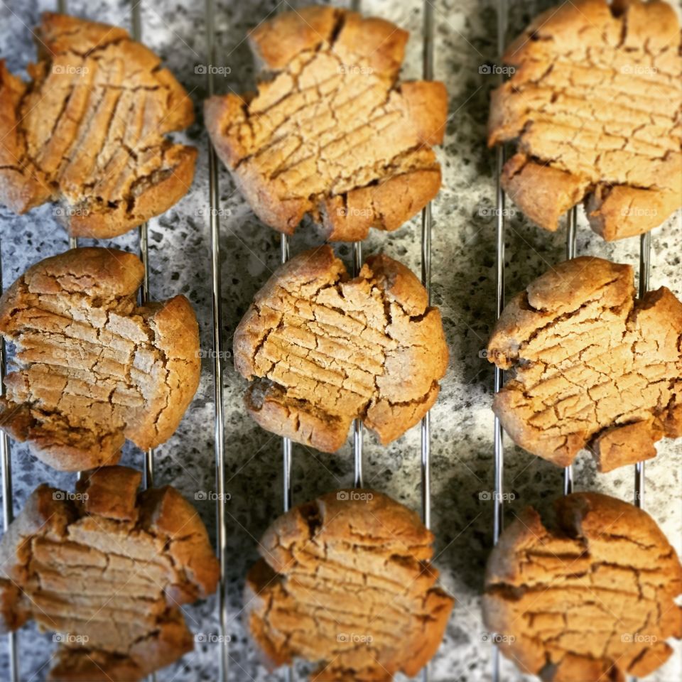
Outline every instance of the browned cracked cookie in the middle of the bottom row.
{"type": "Polygon", "coordinates": [[[280,516],[244,595],[266,663],[319,663],[315,682],[416,675],[454,603],[435,586],[432,543],[413,511],[372,490],[330,492],[280,516]]]}

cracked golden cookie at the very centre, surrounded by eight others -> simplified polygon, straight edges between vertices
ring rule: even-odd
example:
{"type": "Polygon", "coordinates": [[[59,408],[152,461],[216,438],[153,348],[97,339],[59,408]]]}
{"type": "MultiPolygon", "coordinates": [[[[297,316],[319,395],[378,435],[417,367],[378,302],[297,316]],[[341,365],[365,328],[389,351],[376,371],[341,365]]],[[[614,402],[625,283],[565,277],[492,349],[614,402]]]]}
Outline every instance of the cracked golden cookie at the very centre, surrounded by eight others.
{"type": "Polygon", "coordinates": [[[234,334],[251,416],[268,431],[338,450],[354,418],[384,445],[414,426],[448,366],[438,308],[404,265],[370,256],[350,278],[331,247],[275,271],[234,334]]]}

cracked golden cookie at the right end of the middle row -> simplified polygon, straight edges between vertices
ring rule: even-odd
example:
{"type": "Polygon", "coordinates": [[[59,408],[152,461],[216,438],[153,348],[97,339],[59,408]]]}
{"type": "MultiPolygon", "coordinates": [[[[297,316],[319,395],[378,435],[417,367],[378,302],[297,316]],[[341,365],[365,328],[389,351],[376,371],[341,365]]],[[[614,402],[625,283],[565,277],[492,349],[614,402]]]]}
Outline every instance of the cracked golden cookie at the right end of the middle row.
{"type": "Polygon", "coordinates": [[[590,448],[610,471],[682,436],[682,303],[666,287],[635,298],[628,265],[556,266],[504,308],[487,352],[514,369],[493,402],[504,429],[557,465],[590,448]]]}

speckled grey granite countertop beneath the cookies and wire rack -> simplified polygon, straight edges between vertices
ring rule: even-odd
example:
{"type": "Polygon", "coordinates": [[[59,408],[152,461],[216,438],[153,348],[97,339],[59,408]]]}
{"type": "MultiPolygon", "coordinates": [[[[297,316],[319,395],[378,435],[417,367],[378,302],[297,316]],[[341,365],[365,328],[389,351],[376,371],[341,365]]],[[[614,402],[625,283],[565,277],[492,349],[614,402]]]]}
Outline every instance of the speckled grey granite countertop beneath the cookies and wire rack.
{"type": "MultiPolygon", "coordinates": [[[[202,347],[210,349],[211,292],[208,239],[207,136],[202,129],[200,102],[205,97],[204,76],[195,72],[205,63],[204,3],[199,1],[143,0],[143,40],[156,50],[191,93],[197,123],[186,136],[200,149],[195,182],[190,193],[166,215],[150,224],[151,293],[165,298],[185,293],[197,310],[202,347]]],[[[284,5],[288,3],[286,0],[284,5]]],[[[511,4],[511,34],[517,33],[538,10],[551,1],[515,1],[511,4]]],[[[292,6],[295,6],[292,3],[292,6]]],[[[2,0],[0,2],[0,55],[10,70],[20,71],[34,56],[28,27],[38,23],[40,11],[55,9],[54,2],[2,0]]],[[[72,13],[99,21],[130,26],[130,6],[122,0],[89,3],[70,0],[72,13]]],[[[275,11],[274,0],[217,2],[217,53],[229,74],[217,77],[217,92],[240,92],[252,86],[251,56],[244,42],[247,29],[275,11]]],[[[412,32],[404,75],[421,76],[420,0],[363,0],[362,9],[412,32]]],[[[445,588],[457,597],[443,645],[431,666],[434,682],[479,682],[490,679],[491,647],[485,641],[479,593],[485,558],[491,546],[492,503],[480,492],[493,486],[492,367],[480,357],[494,322],[494,157],[485,148],[487,98],[493,78],[480,66],[494,62],[494,4],[479,0],[435,0],[435,76],[445,81],[450,95],[450,118],[440,158],[444,188],[433,205],[433,303],[443,312],[450,345],[450,368],[432,411],[433,530],[437,537],[436,564],[445,588]]],[[[254,292],[278,264],[278,235],[259,224],[229,178],[220,171],[222,209],[222,296],[225,339],[229,339],[254,292]]],[[[681,219],[677,215],[653,235],[651,286],[665,284],[682,296],[681,219]]],[[[416,218],[392,234],[375,233],[364,246],[365,254],[383,250],[416,272],[420,267],[420,222],[416,218]]],[[[26,267],[67,248],[66,235],[45,205],[21,217],[0,207],[3,284],[9,284],[26,267]]],[[[136,232],[113,240],[136,250],[136,232]]],[[[318,243],[308,230],[291,243],[292,253],[318,243]]],[[[337,247],[349,262],[350,246],[337,247]]],[[[578,253],[607,256],[639,264],[639,239],[605,244],[580,216],[578,253]]],[[[523,288],[534,276],[564,258],[565,232],[549,234],[511,216],[507,232],[507,293],[523,288]]],[[[243,577],[256,559],[256,542],[281,510],[281,445],[245,416],[241,394],[245,382],[227,360],[225,373],[227,490],[231,500],[229,521],[227,596],[229,600],[229,679],[234,681],[284,680],[284,673],[268,675],[259,666],[242,627],[243,577]]],[[[366,438],[365,481],[414,509],[420,506],[419,429],[381,448],[366,438]]],[[[561,492],[562,472],[553,465],[507,444],[505,486],[515,499],[507,506],[507,519],[527,504],[541,509],[561,492]]],[[[142,455],[128,448],[124,463],[142,466],[142,455]]],[[[12,444],[14,508],[41,481],[71,486],[72,475],[60,475],[36,461],[25,447],[12,444]]],[[[682,442],[659,444],[659,456],[647,462],[646,508],[681,549],[680,501],[682,442]]],[[[156,480],[173,483],[193,499],[199,491],[214,489],[212,361],[205,360],[197,396],[178,432],[156,453],[156,480]]],[[[335,487],[352,485],[352,446],[335,455],[320,455],[294,446],[295,502],[335,487]]],[[[597,475],[591,458],[583,455],[575,465],[576,489],[601,490],[632,499],[632,468],[597,475]]],[[[197,507],[215,536],[212,502],[197,507]]],[[[195,632],[217,632],[215,599],[188,607],[195,632]]],[[[21,681],[41,680],[48,670],[53,647],[49,634],[26,627],[19,636],[21,681]]],[[[0,642],[0,678],[7,678],[6,646],[0,642]]],[[[649,678],[678,680],[682,673],[679,647],[671,660],[649,678]]],[[[298,677],[298,676],[297,676],[298,677]]],[[[504,681],[525,680],[507,662],[504,681]]],[[[215,645],[197,644],[192,654],[162,671],[160,681],[213,681],[217,679],[215,645]]]]}

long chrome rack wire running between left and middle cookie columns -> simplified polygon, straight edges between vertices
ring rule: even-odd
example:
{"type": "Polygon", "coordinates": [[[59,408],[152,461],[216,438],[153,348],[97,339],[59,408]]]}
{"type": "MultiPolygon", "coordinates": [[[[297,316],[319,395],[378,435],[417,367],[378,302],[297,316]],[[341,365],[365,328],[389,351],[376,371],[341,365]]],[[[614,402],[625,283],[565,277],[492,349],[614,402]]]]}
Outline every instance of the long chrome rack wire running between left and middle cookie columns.
{"type": "MultiPolygon", "coordinates": [[[[215,0],[206,0],[206,59],[207,65],[215,64],[215,0]]],[[[215,92],[212,69],[206,69],[206,90],[209,97],[215,92]]],[[[218,610],[220,621],[220,682],[227,682],[229,651],[227,638],[227,598],[225,593],[227,575],[227,525],[225,521],[225,416],[223,386],[223,337],[222,299],[220,283],[220,220],[218,206],[218,166],[215,150],[208,142],[208,183],[210,200],[210,241],[211,241],[211,298],[213,313],[213,400],[215,404],[214,450],[215,480],[217,487],[216,521],[217,553],[220,561],[220,583],[218,585],[218,610]]]]}

